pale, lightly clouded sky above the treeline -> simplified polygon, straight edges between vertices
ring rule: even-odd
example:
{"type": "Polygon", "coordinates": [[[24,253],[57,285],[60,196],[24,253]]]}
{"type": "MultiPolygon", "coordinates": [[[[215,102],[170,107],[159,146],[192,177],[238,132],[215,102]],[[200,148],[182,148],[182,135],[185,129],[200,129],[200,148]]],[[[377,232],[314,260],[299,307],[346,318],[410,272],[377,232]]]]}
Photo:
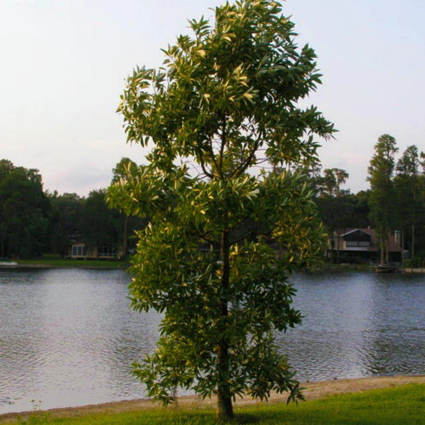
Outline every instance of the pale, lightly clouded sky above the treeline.
{"type": "MultiPolygon", "coordinates": [[[[159,67],[161,48],[213,17],[217,0],[0,0],[0,158],[38,168],[46,190],[107,187],[121,157],[143,163],[115,113],[137,65],[159,67]]],[[[335,123],[319,149],[323,168],[368,188],[381,134],[400,153],[425,151],[425,1],[287,0],[299,34],[318,56],[323,85],[307,100],[335,123]]]]}

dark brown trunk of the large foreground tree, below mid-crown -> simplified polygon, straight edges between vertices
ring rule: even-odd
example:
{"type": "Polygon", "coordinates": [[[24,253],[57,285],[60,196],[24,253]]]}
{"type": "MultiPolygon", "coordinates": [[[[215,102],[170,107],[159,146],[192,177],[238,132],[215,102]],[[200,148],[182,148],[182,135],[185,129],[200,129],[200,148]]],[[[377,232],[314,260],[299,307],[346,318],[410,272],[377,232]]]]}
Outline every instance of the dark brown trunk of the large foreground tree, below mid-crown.
{"type": "MultiPolygon", "coordinates": [[[[229,233],[224,230],[221,241],[221,257],[222,280],[220,294],[220,316],[224,328],[227,326],[226,319],[228,315],[227,309],[227,291],[230,281],[230,245],[229,233]]],[[[221,330],[224,333],[225,329],[221,330]]],[[[230,395],[230,387],[228,382],[229,372],[229,347],[225,336],[222,336],[219,342],[219,350],[217,355],[217,370],[220,376],[220,382],[217,388],[217,417],[220,420],[233,418],[232,397],[230,395]]]]}

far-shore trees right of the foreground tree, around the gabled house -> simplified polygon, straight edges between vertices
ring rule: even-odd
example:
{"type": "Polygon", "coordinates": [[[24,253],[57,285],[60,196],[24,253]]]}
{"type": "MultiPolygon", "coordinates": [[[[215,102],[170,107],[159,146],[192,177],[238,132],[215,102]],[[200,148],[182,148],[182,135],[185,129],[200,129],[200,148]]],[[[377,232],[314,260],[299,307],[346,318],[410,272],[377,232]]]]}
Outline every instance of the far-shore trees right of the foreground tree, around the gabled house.
{"type": "Polygon", "coordinates": [[[388,235],[399,232],[412,265],[425,264],[425,154],[415,145],[400,155],[396,140],[382,134],[374,146],[367,180],[370,189],[351,194],[341,189],[348,173],[338,168],[312,168],[305,174],[328,232],[368,227],[380,238],[381,262],[388,262],[388,235]]]}

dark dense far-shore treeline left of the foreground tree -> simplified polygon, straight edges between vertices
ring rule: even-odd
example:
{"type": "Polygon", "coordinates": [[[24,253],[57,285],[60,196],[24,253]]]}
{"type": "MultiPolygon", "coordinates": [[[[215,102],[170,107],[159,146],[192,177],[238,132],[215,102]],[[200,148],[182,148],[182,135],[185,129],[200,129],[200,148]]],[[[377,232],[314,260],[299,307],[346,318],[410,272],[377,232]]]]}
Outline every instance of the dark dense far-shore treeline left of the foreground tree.
{"type": "MultiPolygon", "coordinates": [[[[123,158],[126,162],[127,159],[123,158]]],[[[113,179],[119,178],[119,164],[113,179]]],[[[0,257],[22,259],[45,252],[63,256],[68,246],[83,241],[88,246],[132,247],[130,236],[143,223],[109,209],[106,189],[92,190],[87,197],[43,190],[37,169],[0,160],[0,257]]]]}

